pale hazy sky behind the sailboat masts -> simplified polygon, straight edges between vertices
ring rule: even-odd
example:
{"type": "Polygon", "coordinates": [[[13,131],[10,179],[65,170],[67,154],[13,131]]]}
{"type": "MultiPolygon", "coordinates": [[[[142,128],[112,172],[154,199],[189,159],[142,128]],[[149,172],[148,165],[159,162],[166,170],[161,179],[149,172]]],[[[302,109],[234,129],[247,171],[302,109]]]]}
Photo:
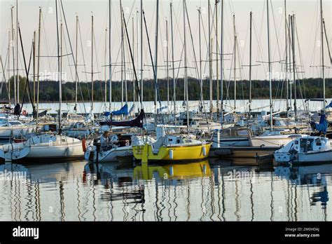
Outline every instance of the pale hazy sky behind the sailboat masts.
{"type": "MultiPolygon", "coordinates": [[[[109,1],[82,1],[82,0],[63,0],[65,17],[69,27],[69,34],[71,43],[75,51],[75,30],[76,30],[76,14],[78,15],[81,29],[81,36],[78,37],[78,76],[81,81],[88,79],[90,81],[91,75],[83,73],[91,72],[91,15],[94,15],[94,34],[95,34],[95,48],[94,48],[94,72],[100,72],[94,75],[94,79],[104,79],[105,72],[102,65],[108,64],[108,55],[105,60],[105,29],[108,28],[109,18],[109,1]],[[82,43],[82,46],[81,46],[82,43]],[[83,53],[83,55],[82,55],[83,53]],[[85,68],[83,66],[83,57],[85,62],[85,68]]],[[[158,65],[166,64],[166,27],[165,20],[168,20],[169,27],[169,60],[172,60],[171,56],[171,39],[170,39],[170,2],[169,0],[160,0],[160,28],[159,28],[159,44],[158,44],[158,65]]],[[[183,28],[183,1],[174,0],[173,2],[173,22],[174,22],[174,60],[181,59],[181,50],[183,48],[184,28],[183,28]]],[[[191,41],[191,35],[189,27],[186,27],[186,42],[188,50],[188,66],[195,67],[195,57],[193,53],[193,46],[195,48],[196,60],[199,60],[199,32],[198,32],[198,8],[202,8],[202,60],[207,60],[207,41],[208,41],[208,15],[207,15],[207,0],[187,0],[188,17],[190,20],[191,31],[193,34],[193,43],[191,41]]],[[[111,27],[111,57],[113,63],[120,62],[120,1],[112,0],[112,27],[111,27]]],[[[8,31],[11,29],[11,6],[15,6],[15,0],[1,0],[1,38],[0,38],[0,51],[3,62],[5,62],[8,50],[8,31]]],[[[55,0],[18,0],[18,17],[20,22],[20,28],[22,32],[22,38],[24,41],[25,55],[29,59],[29,53],[32,46],[32,38],[34,30],[38,33],[39,22],[39,6],[43,11],[42,14],[42,28],[41,28],[41,55],[54,56],[57,54],[57,35],[56,35],[56,22],[55,22],[55,0]]],[[[155,55],[155,0],[143,1],[144,11],[146,14],[147,28],[149,32],[149,38],[151,41],[151,49],[153,53],[153,59],[155,55]]],[[[212,15],[214,14],[214,0],[211,0],[212,15]]],[[[137,55],[140,56],[140,43],[138,43],[139,50],[137,50],[137,41],[139,39],[140,27],[137,29],[137,18],[139,14],[137,11],[140,9],[140,1],[136,0],[123,0],[123,8],[125,11],[125,18],[128,21],[127,27],[130,36],[130,42],[132,43],[132,18],[134,18],[134,59],[136,68],[137,55]]],[[[324,19],[326,22],[326,32],[328,36],[329,45],[332,45],[332,1],[323,0],[324,19]]],[[[234,46],[234,34],[233,34],[233,14],[235,14],[235,26],[237,30],[237,67],[242,65],[249,65],[249,12],[253,12],[254,24],[253,24],[253,44],[252,44],[252,62],[253,65],[257,65],[256,61],[268,61],[268,46],[267,46],[267,17],[266,17],[266,1],[264,0],[224,0],[224,53],[233,53],[234,46]]],[[[312,68],[310,65],[321,64],[321,52],[320,52],[320,22],[319,22],[319,0],[287,0],[286,1],[286,13],[296,15],[296,62],[298,65],[301,63],[303,67],[300,67],[301,71],[305,73],[298,73],[299,77],[312,77],[320,76],[321,69],[312,68]]],[[[215,16],[215,15],[214,15],[215,16]]],[[[220,45],[221,39],[221,4],[218,4],[218,36],[217,39],[220,45]]],[[[15,8],[14,8],[15,18],[15,8]]],[[[62,18],[60,18],[61,20],[62,18]]],[[[212,18],[211,18],[212,20],[212,18]]],[[[213,20],[215,22],[215,19],[213,20]]],[[[64,23],[64,22],[63,22],[64,23]]],[[[138,23],[139,24],[139,23],[138,23]]],[[[15,21],[14,21],[15,25],[15,21]]],[[[109,31],[109,30],[108,30],[109,31]]],[[[146,34],[144,29],[143,39],[143,63],[147,65],[144,67],[144,78],[153,76],[153,70],[151,65],[150,55],[148,53],[148,43],[146,41],[146,34]]],[[[108,39],[107,45],[108,45],[108,39]]],[[[284,36],[284,0],[272,0],[270,1],[270,41],[271,41],[271,60],[279,61],[284,59],[285,48],[285,36],[284,36]]],[[[325,46],[325,64],[329,63],[328,51],[326,47],[326,40],[324,36],[325,46]]],[[[216,34],[215,30],[212,31],[212,48],[216,53],[216,34]]],[[[107,46],[108,48],[108,46],[107,46]]],[[[21,50],[21,49],[19,49],[21,50]]],[[[219,50],[218,50],[219,52],[219,50]]],[[[64,45],[63,54],[71,53],[69,48],[69,41],[67,32],[64,30],[64,45]]],[[[213,55],[214,60],[216,54],[213,55]]],[[[12,57],[11,57],[12,58],[12,57]]],[[[233,55],[224,56],[224,79],[233,80],[233,55]]],[[[22,60],[22,55],[20,55],[22,60]]],[[[183,60],[183,58],[182,58],[183,60]]],[[[130,62],[130,53],[125,41],[125,61],[130,62]]],[[[176,62],[176,67],[179,66],[179,62],[176,62]]],[[[4,64],[6,65],[6,64],[4,64]]],[[[63,70],[66,73],[65,78],[67,81],[73,80],[74,69],[72,66],[73,60],[71,56],[63,57],[63,70]]],[[[219,62],[220,65],[220,62],[219,62]]],[[[181,67],[184,64],[181,63],[181,67]]],[[[198,63],[199,67],[199,63],[198,63]]],[[[12,68],[12,65],[11,65],[12,68]]],[[[20,69],[21,69],[20,65],[20,69]]],[[[7,65],[6,65],[7,69],[7,65]]],[[[132,65],[126,64],[127,79],[132,79],[131,70],[132,65]]],[[[163,78],[166,76],[166,67],[159,67],[158,77],[163,78]]],[[[219,68],[220,69],[220,68],[219,68]]],[[[57,59],[55,57],[41,57],[41,72],[56,72],[57,71],[57,59]]],[[[277,79],[279,72],[284,70],[284,65],[279,62],[272,64],[272,72],[275,79],[277,79]]],[[[326,69],[326,76],[331,77],[331,70],[326,69]]],[[[237,69],[237,79],[248,79],[249,68],[242,67],[237,69]]],[[[213,72],[216,76],[216,63],[213,63],[213,72]]],[[[253,67],[252,79],[266,79],[266,72],[268,72],[268,65],[263,63],[261,66],[253,67]]],[[[32,69],[31,69],[32,73],[32,69]]],[[[176,69],[175,74],[179,77],[183,76],[184,69],[176,69]]],[[[204,76],[209,75],[209,67],[207,62],[202,62],[202,73],[204,76]]],[[[52,73],[50,73],[52,74],[52,73]]],[[[191,76],[198,76],[196,69],[188,69],[188,74],[191,76]]],[[[108,71],[106,72],[108,77],[108,71]]],[[[170,76],[172,71],[170,70],[170,76]]],[[[43,76],[50,77],[50,76],[43,76]]],[[[120,66],[113,68],[113,80],[120,79],[120,66]]]]}

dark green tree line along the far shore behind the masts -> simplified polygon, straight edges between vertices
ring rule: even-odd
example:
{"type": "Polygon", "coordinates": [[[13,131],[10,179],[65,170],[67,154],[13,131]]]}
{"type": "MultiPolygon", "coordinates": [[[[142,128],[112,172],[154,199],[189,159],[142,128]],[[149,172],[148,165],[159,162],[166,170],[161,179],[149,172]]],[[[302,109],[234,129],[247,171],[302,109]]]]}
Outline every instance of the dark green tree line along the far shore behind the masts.
{"type": "MultiPolygon", "coordinates": [[[[14,100],[14,76],[11,76],[9,80],[11,83],[11,101],[14,100]]],[[[26,77],[19,76],[20,82],[20,102],[22,102],[25,96],[25,102],[29,102],[29,93],[26,92],[26,77]]],[[[58,102],[59,101],[59,83],[56,81],[40,81],[39,83],[39,102],[58,102]]],[[[31,90],[31,98],[35,97],[37,93],[37,83],[29,81],[31,90]],[[35,90],[35,96],[34,96],[35,90]]],[[[94,81],[93,82],[94,100],[102,102],[104,101],[105,82],[94,81]]],[[[184,79],[177,79],[176,81],[176,99],[184,100],[184,79]]],[[[8,101],[8,83],[1,83],[1,95],[0,99],[8,101]]],[[[136,83],[127,81],[125,82],[112,81],[112,101],[120,102],[125,101],[125,88],[127,87],[127,100],[132,101],[135,96],[135,101],[138,101],[138,90],[136,83]],[[135,88],[135,92],[134,92],[135,88]]],[[[217,85],[216,80],[213,81],[212,85],[213,99],[217,97],[217,85]]],[[[292,96],[294,97],[295,90],[294,86],[291,86],[292,96]]],[[[106,84],[107,100],[109,100],[109,82],[106,84]]],[[[173,100],[173,80],[158,79],[158,90],[160,100],[167,100],[167,90],[169,90],[170,100],[173,100]]],[[[76,83],[74,82],[62,82],[62,101],[73,102],[75,101],[76,83]]],[[[155,82],[153,79],[144,80],[144,101],[155,100],[155,82]]],[[[268,81],[252,81],[251,82],[251,97],[252,99],[268,99],[269,98],[269,82],[268,81]]],[[[249,81],[237,81],[237,99],[249,99],[249,81]]],[[[290,92],[289,92],[290,93],[290,92]]],[[[188,99],[189,100],[200,100],[201,88],[200,80],[195,78],[188,78],[188,99]]],[[[323,97],[323,81],[319,78],[300,79],[296,81],[296,94],[298,98],[321,98],[323,97]]],[[[202,95],[204,100],[209,100],[209,79],[202,80],[202,95]]],[[[91,82],[80,82],[78,83],[78,102],[88,102],[92,97],[92,83],[91,82]]],[[[219,82],[219,99],[221,97],[221,86],[219,82]]],[[[223,81],[223,97],[224,99],[234,98],[234,81],[223,81]]],[[[272,97],[273,99],[280,99],[286,97],[286,83],[284,81],[272,81],[272,97]]],[[[326,97],[332,97],[332,79],[326,79],[326,97]]]]}

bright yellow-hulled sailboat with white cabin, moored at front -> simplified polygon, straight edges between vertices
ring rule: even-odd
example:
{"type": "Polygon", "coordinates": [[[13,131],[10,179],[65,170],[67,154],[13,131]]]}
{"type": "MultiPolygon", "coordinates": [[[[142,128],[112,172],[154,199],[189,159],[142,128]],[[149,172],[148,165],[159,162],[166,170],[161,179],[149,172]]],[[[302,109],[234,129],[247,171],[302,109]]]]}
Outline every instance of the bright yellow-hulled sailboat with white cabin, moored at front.
{"type": "Polygon", "coordinates": [[[132,147],[134,158],[148,161],[198,161],[207,158],[211,143],[178,135],[165,135],[152,144],[132,147]]]}

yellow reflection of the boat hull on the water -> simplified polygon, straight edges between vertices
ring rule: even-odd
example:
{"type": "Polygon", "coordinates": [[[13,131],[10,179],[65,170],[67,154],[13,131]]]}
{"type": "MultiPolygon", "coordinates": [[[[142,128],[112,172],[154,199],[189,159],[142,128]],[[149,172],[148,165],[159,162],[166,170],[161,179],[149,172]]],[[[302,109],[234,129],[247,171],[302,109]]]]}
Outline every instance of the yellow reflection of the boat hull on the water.
{"type": "Polygon", "coordinates": [[[158,173],[158,176],[162,179],[186,179],[205,177],[212,174],[208,161],[168,165],[141,163],[141,165],[134,168],[134,179],[153,179],[155,173],[158,173]]]}

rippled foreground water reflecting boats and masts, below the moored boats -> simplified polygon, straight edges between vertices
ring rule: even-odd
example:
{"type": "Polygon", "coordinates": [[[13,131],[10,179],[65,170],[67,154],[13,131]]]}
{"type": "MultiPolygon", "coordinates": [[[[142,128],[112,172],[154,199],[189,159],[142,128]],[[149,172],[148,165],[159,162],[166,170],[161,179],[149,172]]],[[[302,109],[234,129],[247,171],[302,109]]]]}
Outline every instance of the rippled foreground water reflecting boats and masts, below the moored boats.
{"type": "Polygon", "coordinates": [[[332,165],[0,165],[0,220],[331,221],[332,165]]]}

